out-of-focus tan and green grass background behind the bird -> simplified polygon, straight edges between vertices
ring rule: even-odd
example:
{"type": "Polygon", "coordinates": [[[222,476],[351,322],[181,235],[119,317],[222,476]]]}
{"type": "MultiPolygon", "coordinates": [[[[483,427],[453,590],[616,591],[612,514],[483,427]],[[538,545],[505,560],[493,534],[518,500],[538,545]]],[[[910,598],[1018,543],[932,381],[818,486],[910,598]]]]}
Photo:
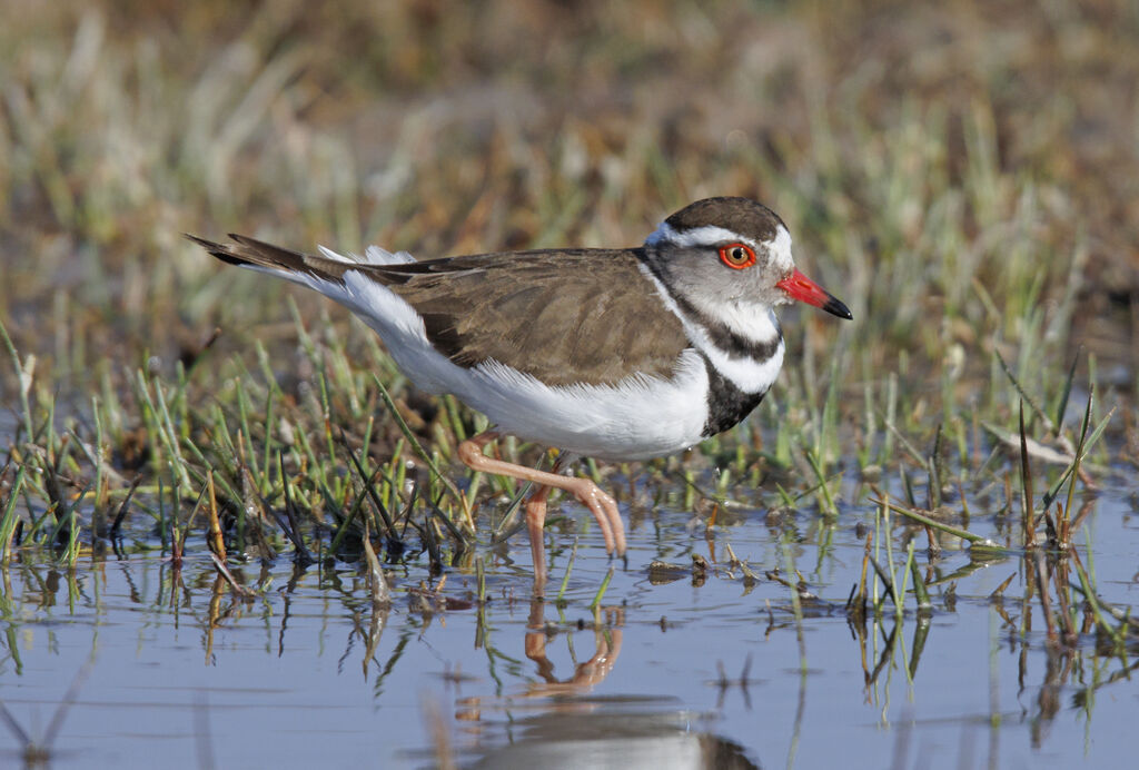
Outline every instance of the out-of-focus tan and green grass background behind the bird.
{"type": "Polygon", "coordinates": [[[842,372],[861,410],[892,372],[952,418],[997,401],[994,350],[1055,392],[1083,346],[1133,394],[1137,83],[1130,0],[5,0],[0,319],[41,387],[85,404],[139,367],[173,376],[215,326],[219,361],[292,350],[286,295],[368,344],[182,232],[617,246],[747,195],[855,317],[792,314],[782,387],[842,372]]]}

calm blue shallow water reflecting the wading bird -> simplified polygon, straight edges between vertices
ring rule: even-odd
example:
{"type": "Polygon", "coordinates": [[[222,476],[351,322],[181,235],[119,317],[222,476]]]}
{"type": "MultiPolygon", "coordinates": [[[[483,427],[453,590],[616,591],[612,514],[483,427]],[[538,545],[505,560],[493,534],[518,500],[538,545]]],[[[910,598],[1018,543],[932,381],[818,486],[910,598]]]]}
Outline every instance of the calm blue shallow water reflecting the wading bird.
{"type": "MultiPolygon", "coordinates": [[[[1097,657],[1090,636],[1074,654],[1050,652],[1034,601],[1022,631],[1016,556],[962,573],[956,600],[947,583],[932,588],[928,624],[911,597],[901,620],[870,619],[860,637],[844,605],[862,565],[855,525],[874,526],[869,505],[835,525],[801,511],[780,531],[765,511],[744,511],[711,536],[690,513],[656,509],[634,517],[626,566],[606,559],[588,516],[565,510],[582,533],[562,608],[528,600],[524,536],[481,551],[482,609],[473,567],[417,597],[407,589],[426,571],[396,567],[402,590],[374,614],[362,573],[343,563],[245,565],[246,584],[264,588],[249,601],[200,555],[180,572],[156,550],[84,556],[74,575],[14,563],[3,573],[3,705],[44,742],[74,687],[51,762],[75,768],[428,767],[441,755],[494,768],[1035,768],[1131,754],[1131,663],[1097,657]],[[724,566],[728,544],[759,573],[751,588],[724,566]],[[650,579],[653,559],[689,565],[691,554],[712,563],[703,581],[650,579]],[[782,565],[786,576],[789,558],[821,597],[804,600],[801,625],[790,590],[763,575],[782,565]]],[[[132,515],[140,531],[128,541],[148,542],[145,519],[132,515]]],[[[1137,530],[1122,494],[1101,494],[1088,519],[1100,595],[1118,605],[1139,600],[1137,530]]],[[[551,595],[573,539],[548,535],[551,595]]],[[[901,562],[901,529],[892,542],[901,562]]],[[[925,568],[923,548],[919,557],[925,568]]],[[[929,576],[968,565],[967,551],[945,550],[929,576]]],[[[0,761],[18,763],[22,751],[0,728],[0,761]]]]}

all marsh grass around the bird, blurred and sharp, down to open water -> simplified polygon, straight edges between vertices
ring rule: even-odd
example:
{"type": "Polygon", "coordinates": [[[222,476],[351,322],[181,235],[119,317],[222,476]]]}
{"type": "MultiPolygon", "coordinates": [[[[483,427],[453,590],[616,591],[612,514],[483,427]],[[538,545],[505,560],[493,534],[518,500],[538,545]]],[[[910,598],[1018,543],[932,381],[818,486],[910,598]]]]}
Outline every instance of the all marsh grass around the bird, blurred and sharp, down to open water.
{"type": "MultiPolygon", "coordinates": [[[[779,212],[855,322],[785,313],[784,372],[744,425],[683,457],[579,468],[634,532],[658,507],[691,511],[710,543],[763,517],[773,560],[728,544],[616,568],[778,587],[764,612],[795,626],[804,672],[804,624],[844,613],[870,687],[906,623],[912,678],[931,617],[984,566],[1015,565],[973,598],[1026,647],[1043,639],[1052,683],[1080,656],[1118,662],[1091,691],[1129,675],[1139,628],[1097,582],[1085,523],[1139,461],[1132,3],[375,5],[5,11],[10,655],[10,570],[50,565],[72,590],[84,564],[208,554],[211,630],[221,596],[269,590],[244,565],[354,567],[366,673],[396,599],[473,608],[493,669],[486,573],[526,591],[499,548],[525,489],[453,457],[483,418],[416,393],[346,311],[181,234],[420,256],[626,245],[734,194],[779,212]],[[863,549],[839,557],[828,543],[855,526],[863,549]],[[800,572],[804,542],[820,565],[859,563],[849,597],[800,572]]],[[[550,461],[513,439],[495,451],[550,461]]],[[[574,565],[604,558],[571,550],[589,517],[563,513],[547,524],[558,612],[574,565]]],[[[590,595],[598,660],[615,657],[621,598],[590,595]]]]}

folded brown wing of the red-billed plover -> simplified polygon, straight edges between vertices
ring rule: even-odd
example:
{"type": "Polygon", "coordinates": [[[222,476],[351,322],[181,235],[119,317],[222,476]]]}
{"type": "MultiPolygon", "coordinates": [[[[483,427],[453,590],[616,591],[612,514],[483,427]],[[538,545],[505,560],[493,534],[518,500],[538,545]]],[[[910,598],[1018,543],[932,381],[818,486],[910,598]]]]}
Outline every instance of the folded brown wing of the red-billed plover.
{"type": "Polygon", "coordinates": [[[494,359],[551,385],[672,375],[688,346],[680,320],[629,251],[483,254],[363,272],[424,318],[464,367],[494,359]]]}

